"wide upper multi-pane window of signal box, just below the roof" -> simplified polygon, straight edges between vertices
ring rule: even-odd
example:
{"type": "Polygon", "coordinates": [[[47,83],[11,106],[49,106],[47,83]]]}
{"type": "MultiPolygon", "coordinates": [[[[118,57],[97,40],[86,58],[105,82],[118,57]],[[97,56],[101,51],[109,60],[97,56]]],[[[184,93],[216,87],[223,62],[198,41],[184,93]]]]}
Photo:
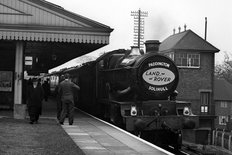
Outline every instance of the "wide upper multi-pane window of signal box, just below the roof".
{"type": "Polygon", "coordinates": [[[175,62],[178,67],[199,68],[200,54],[176,53],[175,62]]]}

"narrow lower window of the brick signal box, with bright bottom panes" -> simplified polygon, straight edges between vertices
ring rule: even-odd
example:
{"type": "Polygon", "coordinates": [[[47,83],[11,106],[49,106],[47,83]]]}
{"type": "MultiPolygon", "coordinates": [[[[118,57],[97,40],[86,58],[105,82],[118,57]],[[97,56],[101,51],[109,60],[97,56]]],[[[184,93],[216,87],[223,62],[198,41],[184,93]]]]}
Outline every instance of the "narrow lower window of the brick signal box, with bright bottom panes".
{"type": "Polygon", "coordinates": [[[210,104],[210,92],[200,92],[201,99],[201,108],[200,112],[202,115],[206,115],[209,113],[209,104],[210,104]]]}

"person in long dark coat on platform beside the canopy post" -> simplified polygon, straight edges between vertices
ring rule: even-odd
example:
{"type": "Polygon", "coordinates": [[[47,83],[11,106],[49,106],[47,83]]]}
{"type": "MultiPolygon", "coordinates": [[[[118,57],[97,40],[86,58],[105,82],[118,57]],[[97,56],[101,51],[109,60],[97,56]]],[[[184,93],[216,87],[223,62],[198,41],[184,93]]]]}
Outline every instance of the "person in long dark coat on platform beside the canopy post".
{"type": "Polygon", "coordinates": [[[27,89],[27,107],[30,116],[30,124],[38,123],[39,115],[42,114],[43,95],[44,91],[41,86],[40,79],[35,79],[33,82],[29,80],[27,89]]]}

